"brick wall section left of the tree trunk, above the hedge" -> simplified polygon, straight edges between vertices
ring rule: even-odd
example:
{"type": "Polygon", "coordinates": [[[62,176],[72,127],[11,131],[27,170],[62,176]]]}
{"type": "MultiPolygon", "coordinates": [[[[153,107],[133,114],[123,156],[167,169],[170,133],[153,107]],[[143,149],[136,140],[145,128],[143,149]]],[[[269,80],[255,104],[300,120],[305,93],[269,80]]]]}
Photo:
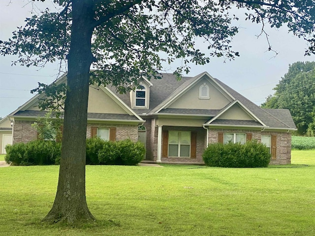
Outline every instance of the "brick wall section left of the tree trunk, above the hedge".
{"type": "Polygon", "coordinates": [[[32,127],[34,121],[15,120],[13,132],[13,144],[27,143],[37,139],[37,131],[32,127]]]}

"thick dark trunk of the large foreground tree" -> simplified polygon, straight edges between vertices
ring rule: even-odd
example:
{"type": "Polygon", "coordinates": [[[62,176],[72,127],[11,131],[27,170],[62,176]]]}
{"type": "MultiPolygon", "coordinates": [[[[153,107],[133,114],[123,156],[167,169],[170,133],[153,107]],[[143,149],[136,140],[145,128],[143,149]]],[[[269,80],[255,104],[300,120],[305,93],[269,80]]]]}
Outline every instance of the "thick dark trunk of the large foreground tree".
{"type": "Polygon", "coordinates": [[[92,63],[93,1],[72,0],[71,44],[62,156],[55,202],[43,221],[75,224],[94,220],[86,202],[85,160],[89,96],[89,73],[92,63]]]}

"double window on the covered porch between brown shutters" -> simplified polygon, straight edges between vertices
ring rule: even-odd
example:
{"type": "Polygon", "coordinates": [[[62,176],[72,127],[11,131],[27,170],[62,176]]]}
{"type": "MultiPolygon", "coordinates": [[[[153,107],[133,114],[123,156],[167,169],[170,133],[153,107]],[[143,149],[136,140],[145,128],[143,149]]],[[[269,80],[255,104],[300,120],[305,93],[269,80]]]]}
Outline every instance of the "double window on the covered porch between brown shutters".
{"type": "Polygon", "coordinates": [[[168,132],[168,156],[189,157],[190,131],[168,132]]]}

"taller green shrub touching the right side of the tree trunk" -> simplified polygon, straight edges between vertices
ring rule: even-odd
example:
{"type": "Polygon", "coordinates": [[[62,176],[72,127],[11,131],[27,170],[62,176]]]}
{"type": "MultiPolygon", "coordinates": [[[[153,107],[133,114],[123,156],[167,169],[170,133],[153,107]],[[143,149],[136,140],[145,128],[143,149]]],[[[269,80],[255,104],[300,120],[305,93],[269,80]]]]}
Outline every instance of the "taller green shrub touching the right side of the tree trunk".
{"type": "Polygon", "coordinates": [[[87,139],[87,156],[86,156],[86,164],[87,165],[98,165],[98,152],[103,149],[106,141],[100,139],[99,137],[94,137],[91,139],[87,139]]]}

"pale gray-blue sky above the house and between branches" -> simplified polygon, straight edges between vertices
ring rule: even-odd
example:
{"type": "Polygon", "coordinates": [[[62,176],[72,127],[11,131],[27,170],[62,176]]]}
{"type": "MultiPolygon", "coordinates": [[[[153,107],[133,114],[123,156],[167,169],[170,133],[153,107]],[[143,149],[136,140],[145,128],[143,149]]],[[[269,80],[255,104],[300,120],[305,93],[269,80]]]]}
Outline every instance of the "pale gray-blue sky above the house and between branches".
{"type": "MultiPolygon", "coordinates": [[[[18,26],[24,26],[24,20],[32,16],[32,6],[28,0],[0,0],[0,40],[6,41],[12,37],[12,32],[18,26]]],[[[54,7],[50,1],[35,3],[40,9],[54,7]],[[45,4],[45,5],[43,5],[45,4]]],[[[36,8],[34,8],[36,10],[36,8]]],[[[240,53],[240,57],[232,61],[213,58],[209,64],[193,65],[188,76],[195,76],[207,71],[223,83],[238,91],[252,102],[260,105],[288,70],[289,64],[296,61],[315,61],[315,56],[304,56],[306,42],[288,33],[286,27],[280,29],[265,28],[274,50],[268,51],[268,42],[264,36],[257,38],[261,26],[244,21],[244,14],[239,15],[236,26],[239,33],[233,38],[232,47],[240,53]]],[[[200,47],[203,47],[202,44],[200,47]]],[[[206,52],[207,45],[204,45],[206,52]]],[[[13,65],[16,56],[0,56],[0,117],[5,117],[18,109],[34,94],[31,89],[37,83],[50,84],[56,80],[59,73],[58,62],[46,65],[44,68],[13,65]]],[[[177,64],[167,65],[171,73],[177,64]]]]}

